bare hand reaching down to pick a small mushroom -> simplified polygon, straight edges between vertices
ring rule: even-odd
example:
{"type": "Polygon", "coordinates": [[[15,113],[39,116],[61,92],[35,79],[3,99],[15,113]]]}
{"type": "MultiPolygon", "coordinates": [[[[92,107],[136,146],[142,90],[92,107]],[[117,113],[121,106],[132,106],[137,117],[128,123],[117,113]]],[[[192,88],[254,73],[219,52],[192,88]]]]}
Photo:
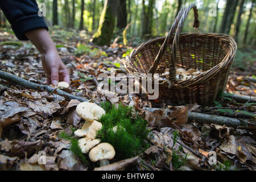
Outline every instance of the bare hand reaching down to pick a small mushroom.
{"type": "Polygon", "coordinates": [[[47,84],[56,86],[59,81],[65,81],[70,84],[68,69],[61,61],[57,51],[47,51],[41,54],[42,65],[46,73],[47,84]]]}

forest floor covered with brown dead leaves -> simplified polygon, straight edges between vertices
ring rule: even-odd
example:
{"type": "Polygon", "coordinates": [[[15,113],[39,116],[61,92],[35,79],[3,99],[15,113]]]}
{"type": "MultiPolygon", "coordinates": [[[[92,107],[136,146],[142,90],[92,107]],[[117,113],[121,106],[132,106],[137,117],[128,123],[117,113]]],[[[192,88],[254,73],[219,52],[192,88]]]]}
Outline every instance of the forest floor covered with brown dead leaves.
{"type": "MultiPolygon", "coordinates": [[[[166,107],[174,114],[166,117],[157,100],[151,102],[136,94],[106,94],[97,90],[93,76],[126,72],[123,57],[135,47],[112,44],[97,47],[89,43],[84,31],[64,31],[53,28],[51,35],[61,59],[71,73],[71,86],[65,89],[73,95],[100,103],[133,105],[138,114],[148,121],[151,129],[150,144],[138,158],[127,159],[123,167],[131,170],[255,170],[256,126],[228,127],[211,123],[183,121],[188,111],[256,121],[255,102],[239,103],[228,97],[213,106],[197,104],[166,107]],[[143,107],[158,107],[151,113],[143,107]],[[217,108],[216,108],[217,107],[217,108]],[[221,107],[221,108],[220,108],[221,107]],[[175,112],[178,110],[179,112],[175,112]],[[240,113],[237,114],[237,113],[240,113]],[[159,125],[168,118],[168,125],[159,125]],[[176,131],[179,131],[176,133],[176,131]],[[214,151],[214,152],[212,152],[214,151]],[[215,160],[215,161],[214,161],[215,160]]],[[[44,72],[39,52],[29,42],[19,42],[11,31],[0,32],[0,69],[31,82],[44,83],[44,72]]],[[[227,93],[256,96],[255,49],[239,49],[230,71],[227,93]]],[[[72,133],[84,123],[77,117],[78,104],[64,97],[40,90],[25,89],[1,80],[0,122],[15,122],[0,127],[0,169],[6,170],[92,170],[70,150],[70,142],[60,139],[62,131],[72,133]],[[5,85],[5,86],[3,86],[5,85]],[[39,165],[39,151],[47,156],[46,165],[39,165]]],[[[134,156],[135,157],[135,156],[134,156]]],[[[110,161],[110,163],[113,163],[110,161]]],[[[98,165],[98,164],[97,164],[98,165]]],[[[96,165],[96,166],[97,166],[96,165]]],[[[118,165],[110,170],[121,169],[118,165]]]]}

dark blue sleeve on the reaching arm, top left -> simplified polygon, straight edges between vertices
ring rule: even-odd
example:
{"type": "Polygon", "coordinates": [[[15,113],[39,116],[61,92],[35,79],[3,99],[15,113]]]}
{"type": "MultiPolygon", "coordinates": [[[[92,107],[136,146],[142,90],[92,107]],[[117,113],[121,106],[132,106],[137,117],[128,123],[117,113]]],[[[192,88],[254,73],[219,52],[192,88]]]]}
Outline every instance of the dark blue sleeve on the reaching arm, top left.
{"type": "Polygon", "coordinates": [[[38,4],[35,0],[0,0],[0,8],[11,24],[19,40],[28,40],[27,31],[46,28],[43,16],[38,15],[38,4]]]}

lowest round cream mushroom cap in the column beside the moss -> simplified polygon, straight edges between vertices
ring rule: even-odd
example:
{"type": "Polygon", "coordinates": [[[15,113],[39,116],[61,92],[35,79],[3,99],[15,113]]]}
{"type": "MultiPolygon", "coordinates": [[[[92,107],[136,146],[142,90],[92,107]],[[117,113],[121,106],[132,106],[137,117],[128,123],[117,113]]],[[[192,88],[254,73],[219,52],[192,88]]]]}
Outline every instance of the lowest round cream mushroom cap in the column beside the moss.
{"type": "Polygon", "coordinates": [[[115,156],[114,147],[109,143],[100,143],[89,152],[89,158],[92,162],[98,160],[113,159],[115,156]]]}

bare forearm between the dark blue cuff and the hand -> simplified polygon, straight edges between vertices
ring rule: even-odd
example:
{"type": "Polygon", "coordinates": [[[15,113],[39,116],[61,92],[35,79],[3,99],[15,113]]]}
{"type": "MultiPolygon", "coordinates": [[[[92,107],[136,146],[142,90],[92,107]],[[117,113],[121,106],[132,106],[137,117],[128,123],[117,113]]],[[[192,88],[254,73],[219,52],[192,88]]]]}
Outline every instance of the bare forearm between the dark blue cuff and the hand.
{"type": "Polygon", "coordinates": [[[44,28],[39,28],[36,30],[31,30],[25,33],[27,38],[35,45],[41,54],[49,51],[56,51],[55,44],[53,43],[51,36],[44,28]]]}

